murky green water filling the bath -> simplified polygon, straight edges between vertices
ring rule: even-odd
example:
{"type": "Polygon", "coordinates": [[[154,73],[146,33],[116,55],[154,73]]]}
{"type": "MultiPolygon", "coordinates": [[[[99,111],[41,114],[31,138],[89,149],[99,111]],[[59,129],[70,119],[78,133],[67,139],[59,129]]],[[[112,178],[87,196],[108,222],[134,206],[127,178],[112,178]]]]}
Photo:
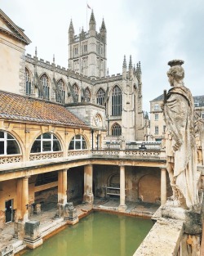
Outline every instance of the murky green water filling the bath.
{"type": "Polygon", "coordinates": [[[24,256],[132,256],[151,227],[149,219],[94,212],[24,256]]]}

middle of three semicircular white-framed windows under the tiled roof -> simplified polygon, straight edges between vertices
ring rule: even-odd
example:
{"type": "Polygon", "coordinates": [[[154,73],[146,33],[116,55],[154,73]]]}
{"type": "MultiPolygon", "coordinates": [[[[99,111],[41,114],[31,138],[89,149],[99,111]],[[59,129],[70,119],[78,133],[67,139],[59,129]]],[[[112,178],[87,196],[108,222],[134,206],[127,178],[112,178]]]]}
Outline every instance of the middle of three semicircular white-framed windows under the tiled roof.
{"type": "Polygon", "coordinates": [[[31,148],[31,153],[61,151],[60,141],[52,133],[43,133],[37,137],[31,148]]]}

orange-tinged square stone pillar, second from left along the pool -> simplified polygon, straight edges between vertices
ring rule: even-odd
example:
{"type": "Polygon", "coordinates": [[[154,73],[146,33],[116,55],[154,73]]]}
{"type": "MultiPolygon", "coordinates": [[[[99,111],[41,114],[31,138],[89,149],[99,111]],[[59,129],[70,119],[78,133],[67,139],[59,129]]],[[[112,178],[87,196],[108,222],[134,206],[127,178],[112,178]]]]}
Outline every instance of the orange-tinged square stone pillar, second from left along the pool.
{"type": "Polygon", "coordinates": [[[67,203],[67,169],[58,171],[58,203],[67,203]]]}

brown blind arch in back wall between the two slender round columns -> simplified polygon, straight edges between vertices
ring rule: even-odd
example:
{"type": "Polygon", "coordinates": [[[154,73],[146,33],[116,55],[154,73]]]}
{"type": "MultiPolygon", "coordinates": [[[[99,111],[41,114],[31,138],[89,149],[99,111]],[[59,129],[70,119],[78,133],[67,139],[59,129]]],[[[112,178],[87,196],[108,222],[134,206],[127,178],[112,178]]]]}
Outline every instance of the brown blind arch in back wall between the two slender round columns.
{"type": "Polygon", "coordinates": [[[146,203],[157,203],[161,197],[160,178],[153,174],[140,177],[138,184],[139,199],[146,203]]]}

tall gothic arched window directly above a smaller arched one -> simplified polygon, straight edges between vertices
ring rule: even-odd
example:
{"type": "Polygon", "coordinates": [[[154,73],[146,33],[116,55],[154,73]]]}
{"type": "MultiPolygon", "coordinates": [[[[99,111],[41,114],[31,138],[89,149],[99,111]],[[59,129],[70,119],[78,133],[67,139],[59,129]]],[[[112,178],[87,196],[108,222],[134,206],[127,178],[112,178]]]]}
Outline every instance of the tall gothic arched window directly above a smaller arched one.
{"type": "Polygon", "coordinates": [[[122,114],[122,92],[116,85],[112,91],[112,115],[122,114]]]}

